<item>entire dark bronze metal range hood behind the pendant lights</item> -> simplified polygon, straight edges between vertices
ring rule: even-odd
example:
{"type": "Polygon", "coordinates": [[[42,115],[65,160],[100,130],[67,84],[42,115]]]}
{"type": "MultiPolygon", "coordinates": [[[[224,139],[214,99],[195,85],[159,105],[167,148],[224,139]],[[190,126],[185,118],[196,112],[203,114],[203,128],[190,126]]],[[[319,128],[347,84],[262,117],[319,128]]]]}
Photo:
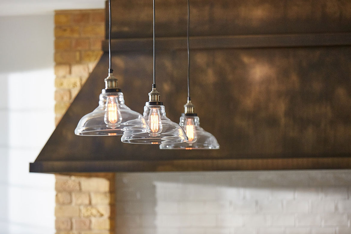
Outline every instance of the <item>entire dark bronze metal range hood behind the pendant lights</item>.
{"type": "MultiPolygon", "coordinates": [[[[296,7],[280,0],[269,1],[267,14],[257,15],[260,7],[254,0],[191,1],[192,102],[221,149],[159,150],[121,143],[120,136],[74,135],[104,88],[105,41],[29,171],[351,168],[351,19],[341,9],[338,18],[298,18],[291,14],[296,7]]],[[[112,12],[114,75],[126,105],[140,113],[152,83],[152,2],[115,0],[112,12]]],[[[178,122],[186,102],[186,2],[157,1],[156,24],[158,90],[167,116],[178,122]]]]}

